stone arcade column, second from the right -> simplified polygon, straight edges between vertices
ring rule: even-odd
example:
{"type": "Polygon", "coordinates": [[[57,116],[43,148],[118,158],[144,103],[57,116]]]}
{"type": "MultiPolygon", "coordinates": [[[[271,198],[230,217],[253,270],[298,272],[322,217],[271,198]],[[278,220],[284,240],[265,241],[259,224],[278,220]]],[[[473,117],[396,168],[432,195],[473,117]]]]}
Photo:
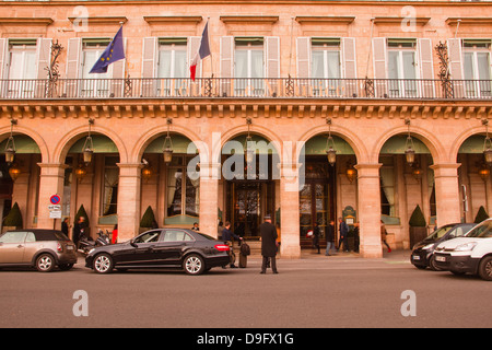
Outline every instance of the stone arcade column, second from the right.
{"type": "Polygon", "coordinates": [[[380,189],[382,164],[358,164],[360,254],[364,258],[380,258],[380,189]]]}

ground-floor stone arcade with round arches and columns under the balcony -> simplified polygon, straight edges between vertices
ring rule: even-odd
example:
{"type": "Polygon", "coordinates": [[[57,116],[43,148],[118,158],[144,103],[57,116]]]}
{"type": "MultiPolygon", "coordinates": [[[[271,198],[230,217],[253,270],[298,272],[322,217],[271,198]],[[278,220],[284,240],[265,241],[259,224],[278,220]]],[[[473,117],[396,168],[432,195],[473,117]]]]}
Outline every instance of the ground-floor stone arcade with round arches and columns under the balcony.
{"type": "MultiPolygon", "coordinates": [[[[249,130],[250,135],[270,142],[272,152],[277,154],[277,158],[271,158],[277,160],[272,172],[273,168],[278,170],[278,176],[272,179],[271,194],[269,189],[261,189],[258,195],[269,197],[269,203],[262,206],[260,215],[265,215],[270,209],[274,211],[276,221],[281,228],[282,256],[300,257],[300,226],[303,220],[303,191],[300,191],[303,186],[301,184],[300,187],[300,182],[304,182],[300,174],[306,171],[303,168],[303,162],[308,164],[309,160],[315,159],[318,163],[327,163],[326,155],[320,156],[325,153],[324,144],[318,145],[314,152],[308,150],[307,144],[315,138],[321,138],[321,143],[326,140],[329,119],[330,132],[338,142],[338,154],[337,163],[330,171],[330,176],[335,176],[335,190],[330,195],[332,203],[328,219],[343,215],[343,210],[348,207],[354,209],[355,221],[360,222],[362,256],[382,256],[380,170],[386,166],[382,155],[387,152],[385,150],[390,149],[388,141],[395,138],[405,139],[410,135],[415,142],[421,143],[422,149],[426,150],[422,153],[427,154],[421,154],[420,164],[423,165],[425,174],[432,171],[432,177],[415,179],[411,176],[411,168],[405,164],[402,152],[394,158],[396,182],[391,185],[394,196],[393,203],[389,205],[395,206],[397,202],[399,214],[387,215],[398,217],[396,222],[389,220],[387,228],[388,232],[395,235],[395,241],[391,242],[395,247],[409,248],[408,218],[415,205],[424,209],[426,219],[433,217],[440,225],[472,220],[479,205],[492,209],[490,175],[481,182],[475,175],[467,175],[472,172],[462,172],[460,163],[470,156],[476,156],[477,162],[480,162],[479,152],[465,158],[459,155],[467,140],[480,139],[485,135],[484,118],[478,112],[465,115],[464,108],[454,108],[449,113],[445,108],[432,106],[435,110],[433,115],[427,113],[429,107],[407,106],[395,112],[395,108],[388,105],[378,109],[374,106],[349,107],[343,113],[324,114],[323,109],[316,109],[316,113],[306,116],[304,105],[290,105],[278,108],[281,113],[271,116],[269,108],[265,106],[261,106],[261,113],[258,113],[258,105],[254,103],[248,101],[247,104],[236,106],[236,112],[239,109],[241,113],[232,113],[226,117],[223,110],[232,110],[225,105],[226,102],[216,103],[203,115],[195,116],[190,116],[183,106],[168,107],[167,113],[162,113],[163,109],[156,110],[144,101],[127,105],[125,109],[117,103],[107,105],[98,102],[92,102],[90,109],[85,108],[83,103],[68,101],[55,102],[54,105],[39,103],[39,106],[28,108],[7,105],[1,117],[16,120],[12,127],[13,137],[24,137],[37,145],[37,149],[31,148],[35,149],[34,151],[26,147],[25,154],[22,147],[17,151],[16,160],[21,174],[13,183],[12,203],[19,203],[25,228],[52,228],[54,224],[60,226],[60,220],[54,222],[49,219],[48,208],[50,196],[58,194],[61,197],[70,197],[69,201],[63,198],[63,215],[70,217],[71,222],[77,209],[83,205],[91,219],[92,232],[95,232],[96,228],[110,230],[117,222],[120,241],[139,233],[140,220],[149,206],[153,208],[160,226],[189,226],[191,221],[197,221],[202,232],[216,236],[219,221],[229,220],[231,211],[234,210],[231,206],[235,203],[231,205],[233,200],[229,198],[233,196],[231,188],[239,188],[234,187],[237,184],[231,186],[223,176],[223,148],[230,140],[244,140],[249,130]],[[348,114],[351,117],[348,117],[348,114]],[[94,120],[91,125],[92,136],[94,139],[101,138],[102,142],[95,144],[94,161],[85,167],[85,174],[75,178],[75,171],[81,166],[81,151],[78,149],[81,149],[80,144],[87,136],[90,119],[94,120]],[[406,120],[410,120],[410,125],[406,120]],[[175,147],[173,156],[178,159],[178,154],[185,154],[183,161],[179,161],[183,163],[167,165],[162,161],[161,145],[167,131],[177,143],[179,140],[189,140],[196,145],[187,148],[189,142],[185,142],[180,150],[180,145],[175,147]],[[190,154],[187,156],[186,153],[190,154]],[[176,217],[175,212],[169,212],[169,201],[176,195],[177,185],[169,180],[167,166],[183,165],[183,168],[186,168],[197,154],[200,155],[200,164],[195,166],[195,170],[199,177],[189,182],[181,178],[181,189],[188,186],[191,191],[194,187],[199,187],[191,203],[197,215],[190,217],[188,211],[183,210],[183,214],[176,217]],[[145,163],[150,163],[150,166],[145,163]],[[349,167],[355,168],[355,179],[348,180],[345,172],[349,167]],[[143,175],[144,168],[151,171],[143,175]],[[68,176],[70,174],[71,177],[68,176]],[[112,182],[117,184],[114,187],[117,192],[106,190],[112,186],[108,185],[112,182]],[[470,212],[464,212],[462,208],[460,185],[464,182],[470,185],[471,192],[468,195],[475,196],[476,203],[471,206],[470,212]],[[176,188],[169,191],[169,186],[176,188]],[[433,190],[427,192],[424,190],[426,188],[433,190]],[[103,198],[108,196],[115,198],[115,202],[103,198]],[[430,203],[431,197],[433,202],[430,203]],[[115,210],[107,211],[104,206],[114,206],[115,210]],[[104,215],[105,211],[112,215],[104,215]]],[[[189,104],[192,105],[191,102],[189,104]]],[[[0,129],[3,142],[10,132],[10,126],[0,129]]],[[[394,153],[397,154],[398,151],[394,153]]],[[[475,166],[476,159],[470,159],[467,164],[475,166]]],[[[258,201],[260,202],[263,203],[258,201]]],[[[427,224],[431,226],[433,223],[429,220],[427,224]]]]}

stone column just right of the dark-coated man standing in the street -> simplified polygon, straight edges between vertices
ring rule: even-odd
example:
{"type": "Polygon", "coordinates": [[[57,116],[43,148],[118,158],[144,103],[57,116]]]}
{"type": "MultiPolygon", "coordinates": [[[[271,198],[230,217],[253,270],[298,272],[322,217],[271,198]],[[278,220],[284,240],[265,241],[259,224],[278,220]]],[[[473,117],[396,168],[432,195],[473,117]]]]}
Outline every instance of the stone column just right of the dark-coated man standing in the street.
{"type": "MultiPolygon", "coordinates": [[[[300,258],[298,177],[300,164],[281,164],[280,177],[280,254],[282,258],[300,258]]],[[[274,214],[274,213],[272,213],[274,214]]]]}

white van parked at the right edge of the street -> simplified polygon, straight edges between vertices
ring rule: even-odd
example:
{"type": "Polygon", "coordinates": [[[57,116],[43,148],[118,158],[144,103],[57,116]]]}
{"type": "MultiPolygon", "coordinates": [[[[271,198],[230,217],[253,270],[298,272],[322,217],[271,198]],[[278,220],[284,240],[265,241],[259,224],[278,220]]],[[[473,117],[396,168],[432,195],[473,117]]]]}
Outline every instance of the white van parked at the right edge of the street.
{"type": "Polygon", "coordinates": [[[492,219],[487,219],[462,237],[441,243],[435,265],[455,275],[473,273],[492,281],[492,219]]]}

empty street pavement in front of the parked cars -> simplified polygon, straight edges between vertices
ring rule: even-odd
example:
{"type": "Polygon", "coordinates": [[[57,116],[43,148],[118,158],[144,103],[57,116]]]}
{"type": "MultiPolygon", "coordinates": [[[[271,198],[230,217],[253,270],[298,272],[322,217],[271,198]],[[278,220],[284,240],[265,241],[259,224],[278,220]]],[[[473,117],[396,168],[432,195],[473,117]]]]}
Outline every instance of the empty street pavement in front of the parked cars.
{"type": "Polygon", "coordinates": [[[492,282],[418,270],[409,258],[409,250],[379,259],[308,250],[279,258],[279,275],[260,275],[257,256],[245,269],[198,277],[168,269],[102,276],[83,259],[65,272],[5,269],[0,327],[492,327],[492,282]]]}

